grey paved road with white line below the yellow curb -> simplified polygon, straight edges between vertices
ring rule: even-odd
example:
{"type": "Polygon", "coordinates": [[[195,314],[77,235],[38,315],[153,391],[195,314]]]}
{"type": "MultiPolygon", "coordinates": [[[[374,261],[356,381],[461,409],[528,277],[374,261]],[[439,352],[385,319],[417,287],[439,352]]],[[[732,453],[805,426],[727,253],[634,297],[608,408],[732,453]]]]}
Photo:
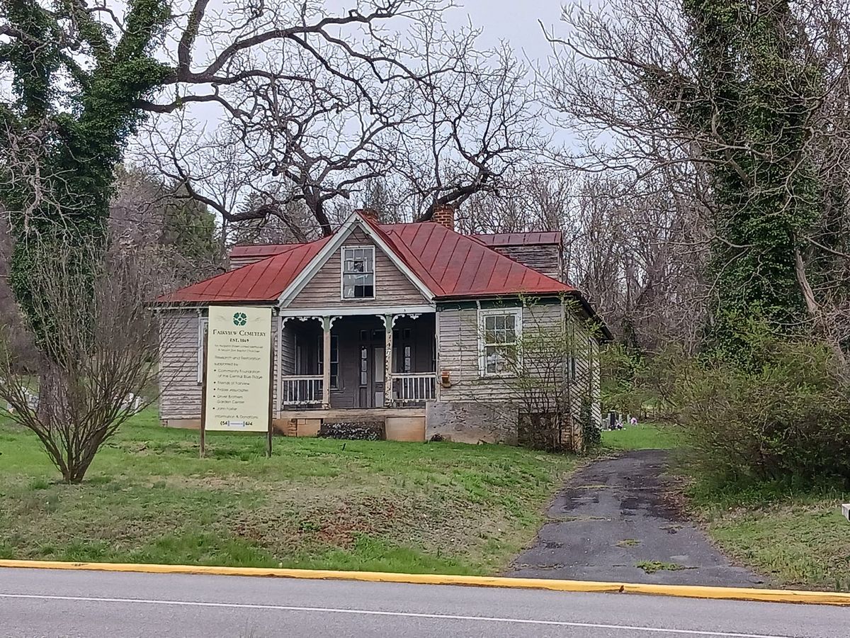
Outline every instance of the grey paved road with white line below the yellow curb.
{"type": "Polygon", "coordinates": [[[7,638],[847,638],[850,610],[446,585],[0,569],[7,638]]]}

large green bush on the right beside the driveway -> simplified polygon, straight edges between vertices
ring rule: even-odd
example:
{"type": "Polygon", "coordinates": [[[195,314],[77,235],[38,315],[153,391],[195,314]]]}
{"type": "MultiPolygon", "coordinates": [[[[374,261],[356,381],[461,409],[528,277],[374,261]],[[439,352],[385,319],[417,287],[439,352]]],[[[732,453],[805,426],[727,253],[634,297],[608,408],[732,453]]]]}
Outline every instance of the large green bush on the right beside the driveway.
{"type": "Polygon", "coordinates": [[[850,387],[834,350],[766,333],[749,345],[755,365],[683,359],[673,375],[693,460],[724,481],[850,486],[850,387]]]}

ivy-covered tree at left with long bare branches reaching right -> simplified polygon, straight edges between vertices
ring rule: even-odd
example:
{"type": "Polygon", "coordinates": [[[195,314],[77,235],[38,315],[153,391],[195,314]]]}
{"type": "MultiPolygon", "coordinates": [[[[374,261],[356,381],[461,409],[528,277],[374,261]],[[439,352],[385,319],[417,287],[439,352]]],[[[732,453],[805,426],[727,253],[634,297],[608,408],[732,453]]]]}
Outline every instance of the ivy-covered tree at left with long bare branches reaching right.
{"type": "MultiPolygon", "coordinates": [[[[249,124],[262,123],[253,110],[277,108],[275,100],[290,93],[321,96],[326,86],[343,87],[333,95],[351,96],[364,105],[357,112],[372,115],[380,111],[366,105],[377,105],[375,91],[384,85],[427,79],[408,64],[403,27],[439,20],[450,6],[450,0],[367,0],[335,14],[319,0],[226,0],[220,8],[208,0],[0,3],[0,71],[11,79],[0,86],[0,202],[17,240],[10,281],[19,304],[33,311],[36,291],[26,273],[37,244],[61,248],[97,235],[105,248],[115,167],[145,117],[213,107],[249,136],[249,124]]],[[[332,100],[320,105],[327,117],[342,108],[332,100]]],[[[313,112],[308,108],[303,117],[313,112]]],[[[289,127],[276,115],[269,127],[289,127]]],[[[363,130],[368,136],[376,128],[365,123],[363,130]]],[[[243,141],[258,152],[266,148],[243,141]]],[[[275,170],[277,159],[265,159],[265,170],[275,170]]],[[[246,179],[233,163],[231,181],[242,188],[246,179]]],[[[197,165],[173,171],[176,192],[232,218],[234,207],[198,186],[197,165]]],[[[241,172],[256,179],[256,167],[241,172]]],[[[269,191],[273,197],[286,192],[269,191]]],[[[240,215],[259,219],[275,205],[240,215]]],[[[327,231],[324,221],[320,225],[327,231]]]]}

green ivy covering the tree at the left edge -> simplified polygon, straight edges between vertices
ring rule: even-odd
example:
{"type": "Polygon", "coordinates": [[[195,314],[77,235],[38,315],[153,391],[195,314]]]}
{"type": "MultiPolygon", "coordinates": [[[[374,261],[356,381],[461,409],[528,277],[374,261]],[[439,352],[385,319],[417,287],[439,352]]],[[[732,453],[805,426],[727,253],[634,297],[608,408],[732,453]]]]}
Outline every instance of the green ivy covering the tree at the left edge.
{"type": "Polygon", "coordinates": [[[27,0],[0,6],[7,20],[0,32],[10,36],[0,44],[0,60],[14,78],[14,101],[0,104],[7,132],[0,143],[16,158],[0,179],[0,202],[12,215],[16,239],[9,281],[38,333],[44,320],[32,303],[33,262],[63,245],[105,248],[115,167],[144,117],[138,102],[170,72],[150,55],[170,11],[161,0],[134,0],[111,45],[111,30],[82,3],[63,0],[54,10],[27,0]],[[67,42],[65,21],[77,25],[75,43],[67,42]],[[77,63],[69,53],[75,48],[91,53],[93,68],[77,63]],[[67,83],[75,89],[65,90],[67,83]]]}

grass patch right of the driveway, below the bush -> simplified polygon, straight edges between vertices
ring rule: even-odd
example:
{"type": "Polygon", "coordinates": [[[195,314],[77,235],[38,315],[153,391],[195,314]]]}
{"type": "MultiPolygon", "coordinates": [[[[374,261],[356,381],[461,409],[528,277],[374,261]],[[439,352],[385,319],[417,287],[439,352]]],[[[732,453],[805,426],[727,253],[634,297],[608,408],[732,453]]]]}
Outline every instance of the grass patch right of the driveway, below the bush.
{"type": "Polygon", "coordinates": [[[840,509],[850,494],[776,485],[713,489],[708,481],[689,492],[711,538],[737,561],[785,587],[850,591],[850,523],[840,509]]]}

